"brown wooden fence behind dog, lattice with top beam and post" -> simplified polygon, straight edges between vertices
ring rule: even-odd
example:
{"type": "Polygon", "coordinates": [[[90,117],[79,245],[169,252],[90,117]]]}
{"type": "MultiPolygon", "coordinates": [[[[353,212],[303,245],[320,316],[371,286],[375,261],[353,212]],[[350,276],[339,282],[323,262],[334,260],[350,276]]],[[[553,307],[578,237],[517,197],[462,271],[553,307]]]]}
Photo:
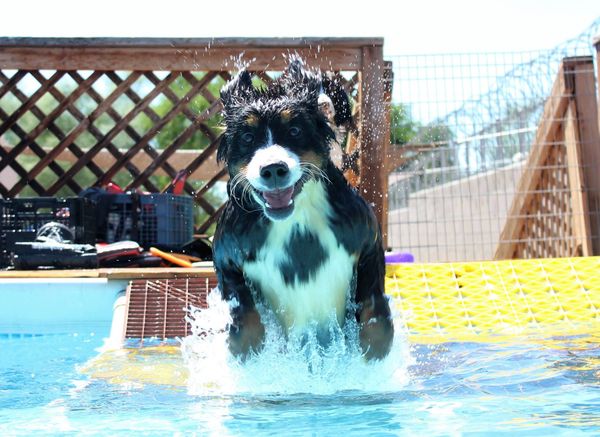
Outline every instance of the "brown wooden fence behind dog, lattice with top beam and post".
{"type": "Polygon", "coordinates": [[[252,60],[249,69],[268,81],[264,72],[284,69],[286,56],[291,53],[298,53],[312,67],[354,72],[355,77],[348,80],[347,86],[350,90],[355,87],[360,106],[360,191],[373,204],[383,224],[387,216],[387,178],[381,169],[389,126],[381,38],[0,38],[0,99],[10,95],[18,100],[14,112],[0,111],[0,140],[9,131],[17,138],[12,144],[6,139],[0,143],[0,196],[14,197],[26,188],[36,195],[57,195],[65,190],[77,193],[86,188],[78,181],[81,172],[93,175],[93,185],[105,184],[125,172],[129,178],[126,188],[159,191],[161,187],[154,176],[173,178],[185,164],[188,175],[205,181],[200,188],[188,183],[186,191],[206,212],[207,218],[198,229],[206,232],[221,208],[208,193],[217,181],[226,178],[225,171],[215,162],[219,136],[207,124],[219,112],[220,103],[207,87],[214,80],[229,79],[242,55],[243,59],[252,60]],[[197,71],[203,75],[194,75],[197,71]],[[107,95],[96,89],[101,77],[111,81],[113,88],[107,95]],[[26,86],[20,85],[24,78],[37,81],[34,92],[24,91],[26,86]],[[63,94],[56,87],[62,80],[74,82],[76,88],[63,94]],[[145,95],[133,88],[139,80],[152,85],[145,95]],[[185,83],[184,96],[173,89],[178,80],[185,83]],[[49,113],[39,105],[47,96],[57,102],[49,113]],[[113,106],[123,96],[133,105],[125,113],[113,106]],[[95,102],[92,111],[78,107],[83,97],[95,102]],[[158,114],[152,107],[157,98],[170,102],[167,114],[158,114]],[[189,102],[195,98],[208,101],[206,111],[199,114],[191,110],[189,102]],[[76,123],[68,130],[57,124],[65,114],[76,123]],[[25,116],[37,120],[31,131],[19,124],[25,116]],[[102,117],[112,120],[108,132],[96,126],[102,117]],[[148,130],[136,131],[133,122],[137,117],[150,119],[148,130]],[[183,117],[185,129],[163,149],[155,148],[152,141],[178,117],[183,117]],[[184,151],[182,147],[196,132],[207,138],[208,145],[196,153],[184,151]],[[53,135],[57,144],[45,146],[40,141],[42,135],[53,135]],[[78,144],[84,135],[93,137],[92,146],[78,144]],[[128,137],[130,146],[122,148],[117,144],[121,135],[128,137]],[[27,156],[33,165],[23,164],[27,156]],[[49,185],[39,180],[44,172],[51,176],[49,185]],[[8,177],[13,179],[10,184],[4,183],[8,177]]]}

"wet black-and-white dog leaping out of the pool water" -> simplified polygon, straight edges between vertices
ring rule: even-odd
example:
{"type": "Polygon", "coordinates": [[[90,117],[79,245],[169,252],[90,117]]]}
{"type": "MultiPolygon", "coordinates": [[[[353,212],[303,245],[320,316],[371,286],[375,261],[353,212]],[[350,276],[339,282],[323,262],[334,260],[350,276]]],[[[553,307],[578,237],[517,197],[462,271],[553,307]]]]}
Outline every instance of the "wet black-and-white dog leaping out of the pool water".
{"type": "Polygon", "coordinates": [[[266,87],[242,70],[221,90],[217,160],[230,180],[214,264],[230,304],[229,349],[242,360],[263,346],[259,301],[288,335],[316,326],[326,338],[329,324],[344,326],[350,311],[367,360],[391,348],[381,231],[331,161],[335,134],[320,109],[323,91],[323,76],[300,58],[266,87]]]}

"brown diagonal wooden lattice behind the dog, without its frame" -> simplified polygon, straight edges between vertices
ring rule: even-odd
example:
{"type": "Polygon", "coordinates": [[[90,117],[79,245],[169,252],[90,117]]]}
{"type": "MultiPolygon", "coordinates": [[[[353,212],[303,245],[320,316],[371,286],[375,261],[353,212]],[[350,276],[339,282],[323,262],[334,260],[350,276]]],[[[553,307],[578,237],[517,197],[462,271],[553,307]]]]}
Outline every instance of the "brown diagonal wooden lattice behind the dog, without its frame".
{"type": "MultiPolygon", "coordinates": [[[[277,73],[275,73],[277,74],[277,73]]],[[[267,83],[273,73],[255,72],[267,83]]],[[[340,76],[357,99],[358,74],[340,76]]],[[[160,192],[178,171],[201,213],[215,222],[227,178],[216,163],[219,89],[215,71],[0,70],[0,195],[69,196],[116,182],[160,192]],[[221,190],[222,193],[222,190],[221,190]]]]}

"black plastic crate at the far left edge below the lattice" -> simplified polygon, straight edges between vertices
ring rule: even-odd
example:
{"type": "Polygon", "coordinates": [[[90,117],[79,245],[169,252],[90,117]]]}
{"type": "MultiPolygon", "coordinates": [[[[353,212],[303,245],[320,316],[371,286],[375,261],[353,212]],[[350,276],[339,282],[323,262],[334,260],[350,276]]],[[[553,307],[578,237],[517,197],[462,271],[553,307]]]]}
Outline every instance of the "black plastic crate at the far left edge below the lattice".
{"type": "Polygon", "coordinates": [[[10,264],[15,243],[34,241],[37,231],[49,222],[70,228],[75,236],[74,243],[96,242],[96,206],[88,199],[0,199],[0,267],[10,264]]]}

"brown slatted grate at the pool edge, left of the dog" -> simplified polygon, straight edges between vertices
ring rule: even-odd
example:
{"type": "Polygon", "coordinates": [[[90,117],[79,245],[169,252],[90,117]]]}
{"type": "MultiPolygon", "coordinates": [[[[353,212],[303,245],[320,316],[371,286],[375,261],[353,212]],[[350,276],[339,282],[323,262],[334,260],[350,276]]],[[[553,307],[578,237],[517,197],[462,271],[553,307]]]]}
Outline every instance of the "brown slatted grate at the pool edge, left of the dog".
{"type": "Polygon", "coordinates": [[[134,280],[127,288],[125,338],[185,337],[190,306],[206,308],[208,293],[217,286],[214,274],[186,279],[134,280]]]}

